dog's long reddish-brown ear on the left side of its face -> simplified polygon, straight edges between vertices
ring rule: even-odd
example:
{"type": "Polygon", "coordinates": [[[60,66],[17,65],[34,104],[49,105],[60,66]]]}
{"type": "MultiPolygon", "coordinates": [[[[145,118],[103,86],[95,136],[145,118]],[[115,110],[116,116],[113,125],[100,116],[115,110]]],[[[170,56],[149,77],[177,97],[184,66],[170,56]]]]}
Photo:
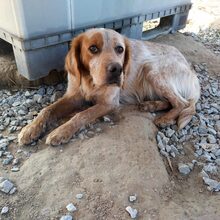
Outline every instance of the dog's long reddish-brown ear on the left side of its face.
{"type": "Polygon", "coordinates": [[[81,61],[80,61],[80,52],[81,52],[81,45],[83,40],[84,34],[80,34],[76,38],[74,38],[71,42],[71,48],[67,53],[65,59],[65,69],[66,71],[73,75],[75,78],[76,86],[79,87],[81,83],[81,61]]]}

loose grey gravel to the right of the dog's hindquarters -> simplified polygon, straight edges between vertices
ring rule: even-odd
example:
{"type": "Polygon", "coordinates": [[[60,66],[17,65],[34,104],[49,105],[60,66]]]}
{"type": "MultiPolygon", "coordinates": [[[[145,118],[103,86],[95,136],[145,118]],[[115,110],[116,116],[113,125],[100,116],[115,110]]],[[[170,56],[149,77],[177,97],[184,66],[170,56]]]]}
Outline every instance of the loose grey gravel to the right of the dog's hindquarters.
{"type": "MultiPolygon", "coordinates": [[[[201,97],[196,104],[196,115],[180,131],[177,130],[176,125],[160,129],[156,135],[157,145],[162,156],[177,157],[178,161],[186,161],[177,164],[180,174],[188,175],[194,165],[198,165],[201,173],[214,176],[215,181],[218,182],[220,180],[220,79],[209,75],[206,63],[196,64],[194,69],[201,84],[201,97]],[[184,149],[186,145],[192,146],[194,150],[192,161],[185,157],[188,154],[184,149]]],[[[207,176],[203,177],[207,178],[207,176]]],[[[211,186],[210,189],[217,191],[211,186]]]]}

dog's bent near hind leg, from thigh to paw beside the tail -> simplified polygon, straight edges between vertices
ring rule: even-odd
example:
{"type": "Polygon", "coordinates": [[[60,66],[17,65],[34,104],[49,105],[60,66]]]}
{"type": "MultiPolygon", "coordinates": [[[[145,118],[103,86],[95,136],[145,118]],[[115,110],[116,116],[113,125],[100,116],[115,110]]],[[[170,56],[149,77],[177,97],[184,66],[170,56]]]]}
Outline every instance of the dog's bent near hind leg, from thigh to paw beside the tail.
{"type": "Polygon", "coordinates": [[[188,103],[183,98],[176,95],[174,91],[167,86],[166,82],[164,82],[164,78],[160,78],[159,74],[149,73],[148,80],[157,95],[167,99],[172,106],[170,111],[155,119],[155,124],[159,127],[175,124],[180,112],[188,105],[188,103]]]}

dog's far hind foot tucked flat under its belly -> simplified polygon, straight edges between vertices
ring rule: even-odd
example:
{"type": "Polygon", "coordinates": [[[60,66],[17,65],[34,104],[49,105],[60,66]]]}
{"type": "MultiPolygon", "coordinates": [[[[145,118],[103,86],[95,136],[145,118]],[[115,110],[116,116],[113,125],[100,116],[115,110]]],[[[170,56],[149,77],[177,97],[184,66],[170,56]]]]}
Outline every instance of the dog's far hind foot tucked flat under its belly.
{"type": "Polygon", "coordinates": [[[139,108],[142,111],[157,112],[170,108],[171,105],[166,101],[145,101],[140,104],[139,108]]]}

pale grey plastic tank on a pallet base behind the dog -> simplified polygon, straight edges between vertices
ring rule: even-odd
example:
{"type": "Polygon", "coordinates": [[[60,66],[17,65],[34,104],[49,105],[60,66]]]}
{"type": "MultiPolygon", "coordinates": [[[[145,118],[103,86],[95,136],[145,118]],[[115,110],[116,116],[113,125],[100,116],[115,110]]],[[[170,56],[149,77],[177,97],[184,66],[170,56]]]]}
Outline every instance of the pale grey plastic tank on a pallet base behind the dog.
{"type": "Polygon", "coordinates": [[[142,34],[144,21],[165,18],[166,31],[174,32],[185,25],[190,7],[190,0],[2,0],[0,38],[12,44],[19,73],[35,80],[63,69],[68,42],[88,28],[147,39],[164,27],[142,34]]]}

